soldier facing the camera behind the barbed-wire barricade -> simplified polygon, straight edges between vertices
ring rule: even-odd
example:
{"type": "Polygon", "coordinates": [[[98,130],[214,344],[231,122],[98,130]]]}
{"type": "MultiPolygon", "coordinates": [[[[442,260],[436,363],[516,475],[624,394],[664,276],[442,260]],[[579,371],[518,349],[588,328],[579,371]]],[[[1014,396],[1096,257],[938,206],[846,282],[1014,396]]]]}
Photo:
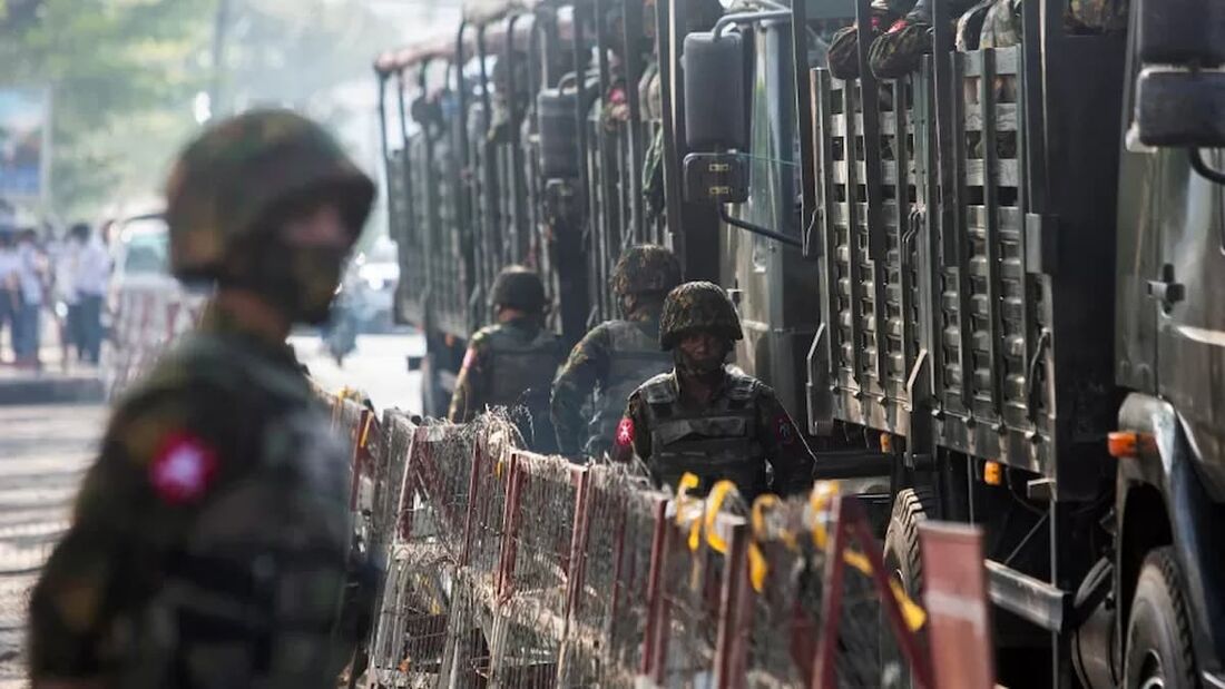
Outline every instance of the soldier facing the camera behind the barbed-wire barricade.
{"type": "Polygon", "coordinates": [[[807,490],[812,453],[774,390],[724,365],[742,337],[736,310],[718,285],[685,283],[673,290],[659,343],[675,367],[630,395],[614,458],[637,454],[657,483],[673,488],[695,474],[699,494],[723,479],[750,502],[766,492],[807,490]]]}

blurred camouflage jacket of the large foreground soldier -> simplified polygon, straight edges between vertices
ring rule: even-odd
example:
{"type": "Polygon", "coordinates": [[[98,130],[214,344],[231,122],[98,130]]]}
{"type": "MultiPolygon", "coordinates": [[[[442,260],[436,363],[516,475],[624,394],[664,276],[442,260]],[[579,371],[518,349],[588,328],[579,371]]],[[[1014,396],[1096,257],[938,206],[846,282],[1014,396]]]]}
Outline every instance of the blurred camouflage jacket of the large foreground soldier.
{"type": "Polygon", "coordinates": [[[206,317],[114,411],[31,598],[31,674],[334,687],[347,486],[288,348],[206,317]]]}

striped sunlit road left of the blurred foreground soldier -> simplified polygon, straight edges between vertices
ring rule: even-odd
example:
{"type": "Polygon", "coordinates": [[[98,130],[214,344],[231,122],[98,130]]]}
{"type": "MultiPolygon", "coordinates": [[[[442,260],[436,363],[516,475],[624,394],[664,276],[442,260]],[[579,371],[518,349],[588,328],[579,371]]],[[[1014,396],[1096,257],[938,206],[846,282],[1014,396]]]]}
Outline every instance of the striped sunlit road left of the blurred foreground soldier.
{"type": "Polygon", "coordinates": [[[67,526],[105,416],[102,405],[0,406],[0,689],[24,687],[28,591],[67,526]]]}

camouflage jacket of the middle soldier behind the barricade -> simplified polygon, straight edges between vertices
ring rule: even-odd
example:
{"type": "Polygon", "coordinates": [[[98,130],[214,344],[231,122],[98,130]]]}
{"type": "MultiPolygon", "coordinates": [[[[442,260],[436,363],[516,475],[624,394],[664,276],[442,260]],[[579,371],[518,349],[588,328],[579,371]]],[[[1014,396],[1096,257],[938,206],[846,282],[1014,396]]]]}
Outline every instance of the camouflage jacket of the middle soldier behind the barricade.
{"type": "Polygon", "coordinates": [[[659,349],[659,311],[652,305],[625,321],[600,323],[575,345],[552,383],[552,425],[562,454],[610,450],[630,393],[671,370],[671,355],[659,349]],[[583,409],[593,393],[599,397],[587,417],[583,409]]]}

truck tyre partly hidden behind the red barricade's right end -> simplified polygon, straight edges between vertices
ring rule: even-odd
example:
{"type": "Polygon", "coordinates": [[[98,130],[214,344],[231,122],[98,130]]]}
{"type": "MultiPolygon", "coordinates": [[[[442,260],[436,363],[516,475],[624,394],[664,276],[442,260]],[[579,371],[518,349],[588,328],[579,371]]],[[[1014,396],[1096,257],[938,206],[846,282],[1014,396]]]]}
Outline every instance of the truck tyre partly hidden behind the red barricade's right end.
{"type": "MultiPolygon", "coordinates": [[[[884,568],[889,578],[902,584],[907,594],[918,600],[922,590],[922,559],[919,557],[919,525],[927,519],[932,504],[926,488],[907,488],[893,499],[893,513],[884,531],[884,568]]],[[[884,611],[881,611],[881,661],[882,668],[895,663],[902,673],[900,687],[910,685],[910,668],[902,654],[884,611]]],[[[920,631],[920,645],[925,642],[920,631]]]]}

